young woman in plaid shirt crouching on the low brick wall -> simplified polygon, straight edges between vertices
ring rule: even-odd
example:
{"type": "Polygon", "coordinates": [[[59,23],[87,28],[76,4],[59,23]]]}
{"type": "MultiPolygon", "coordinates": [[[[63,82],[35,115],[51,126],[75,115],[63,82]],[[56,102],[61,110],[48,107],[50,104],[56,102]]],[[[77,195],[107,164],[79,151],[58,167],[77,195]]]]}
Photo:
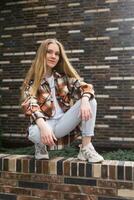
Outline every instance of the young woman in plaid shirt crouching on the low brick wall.
{"type": "Polygon", "coordinates": [[[81,81],[56,39],[41,43],[22,85],[22,100],[31,121],[29,139],[35,143],[36,159],[49,159],[46,145],[55,145],[81,124],[78,159],[104,160],[91,143],[97,107],[93,86],[81,81]]]}

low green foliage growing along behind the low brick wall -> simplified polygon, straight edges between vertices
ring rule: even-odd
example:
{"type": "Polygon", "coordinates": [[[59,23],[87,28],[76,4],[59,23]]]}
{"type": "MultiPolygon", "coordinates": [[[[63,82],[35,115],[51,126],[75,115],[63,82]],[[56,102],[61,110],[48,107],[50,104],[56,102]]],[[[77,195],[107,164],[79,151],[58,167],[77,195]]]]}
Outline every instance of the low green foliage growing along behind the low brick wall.
{"type": "MultiPolygon", "coordinates": [[[[21,155],[34,155],[34,146],[25,147],[25,148],[16,148],[16,149],[6,149],[1,148],[0,153],[6,154],[21,154],[21,155]]],[[[105,160],[121,160],[121,161],[134,161],[134,150],[114,150],[110,152],[99,152],[103,155],[105,160]]],[[[57,156],[63,156],[65,158],[68,157],[76,157],[78,154],[78,148],[76,146],[66,147],[62,150],[50,150],[49,155],[50,158],[54,158],[57,156]]]]}

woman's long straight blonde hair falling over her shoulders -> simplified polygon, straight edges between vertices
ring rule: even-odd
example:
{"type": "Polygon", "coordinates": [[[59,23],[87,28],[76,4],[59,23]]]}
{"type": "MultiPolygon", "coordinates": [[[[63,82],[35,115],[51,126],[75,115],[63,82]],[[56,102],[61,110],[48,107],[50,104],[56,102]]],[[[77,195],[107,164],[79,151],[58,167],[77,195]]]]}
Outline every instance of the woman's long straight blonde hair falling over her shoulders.
{"type": "Polygon", "coordinates": [[[47,48],[50,43],[56,43],[60,49],[60,58],[57,65],[54,67],[54,69],[57,72],[64,73],[69,77],[75,77],[77,79],[80,79],[79,74],[76,72],[76,70],[73,68],[73,66],[69,62],[63,45],[57,39],[46,39],[39,46],[35,59],[29,71],[26,74],[26,77],[24,79],[22,89],[21,89],[22,98],[24,97],[24,90],[26,89],[26,87],[28,86],[31,80],[33,80],[31,95],[33,96],[36,95],[37,90],[42,81],[42,78],[45,76],[46,71],[47,71],[45,60],[46,60],[47,48]]]}

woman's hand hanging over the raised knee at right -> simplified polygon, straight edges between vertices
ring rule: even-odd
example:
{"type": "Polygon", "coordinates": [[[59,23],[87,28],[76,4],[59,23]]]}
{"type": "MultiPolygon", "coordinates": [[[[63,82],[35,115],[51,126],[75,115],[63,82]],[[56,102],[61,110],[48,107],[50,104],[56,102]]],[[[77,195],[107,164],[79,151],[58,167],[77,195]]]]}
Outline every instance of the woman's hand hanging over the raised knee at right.
{"type": "Polygon", "coordinates": [[[81,116],[83,121],[87,121],[90,118],[92,118],[92,111],[89,103],[89,98],[88,97],[82,97],[81,99],[81,107],[80,107],[80,113],[79,115],[81,116]]]}

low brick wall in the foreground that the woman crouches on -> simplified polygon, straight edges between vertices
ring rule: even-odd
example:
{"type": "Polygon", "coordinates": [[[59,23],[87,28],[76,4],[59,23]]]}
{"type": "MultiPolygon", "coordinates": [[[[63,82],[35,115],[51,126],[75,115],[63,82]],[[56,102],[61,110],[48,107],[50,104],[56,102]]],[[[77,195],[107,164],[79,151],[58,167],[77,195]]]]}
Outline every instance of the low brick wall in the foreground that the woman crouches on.
{"type": "Polygon", "coordinates": [[[134,162],[0,154],[2,200],[134,200],[134,162]]]}

